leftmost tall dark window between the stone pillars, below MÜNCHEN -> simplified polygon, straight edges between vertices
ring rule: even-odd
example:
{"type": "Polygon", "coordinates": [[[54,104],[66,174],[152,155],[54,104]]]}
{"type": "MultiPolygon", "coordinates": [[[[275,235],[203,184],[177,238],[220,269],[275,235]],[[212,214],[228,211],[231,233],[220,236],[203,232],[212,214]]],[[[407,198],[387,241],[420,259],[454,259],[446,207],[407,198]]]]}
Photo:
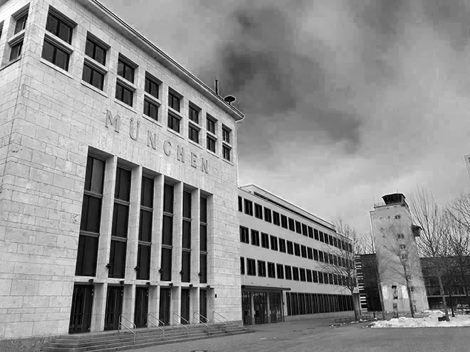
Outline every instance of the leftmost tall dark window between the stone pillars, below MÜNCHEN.
{"type": "Polygon", "coordinates": [[[105,162],[88,156],[75,266],[75,275],[77,276],[95,276],[96,274],[104,175],[105,162]]]}

